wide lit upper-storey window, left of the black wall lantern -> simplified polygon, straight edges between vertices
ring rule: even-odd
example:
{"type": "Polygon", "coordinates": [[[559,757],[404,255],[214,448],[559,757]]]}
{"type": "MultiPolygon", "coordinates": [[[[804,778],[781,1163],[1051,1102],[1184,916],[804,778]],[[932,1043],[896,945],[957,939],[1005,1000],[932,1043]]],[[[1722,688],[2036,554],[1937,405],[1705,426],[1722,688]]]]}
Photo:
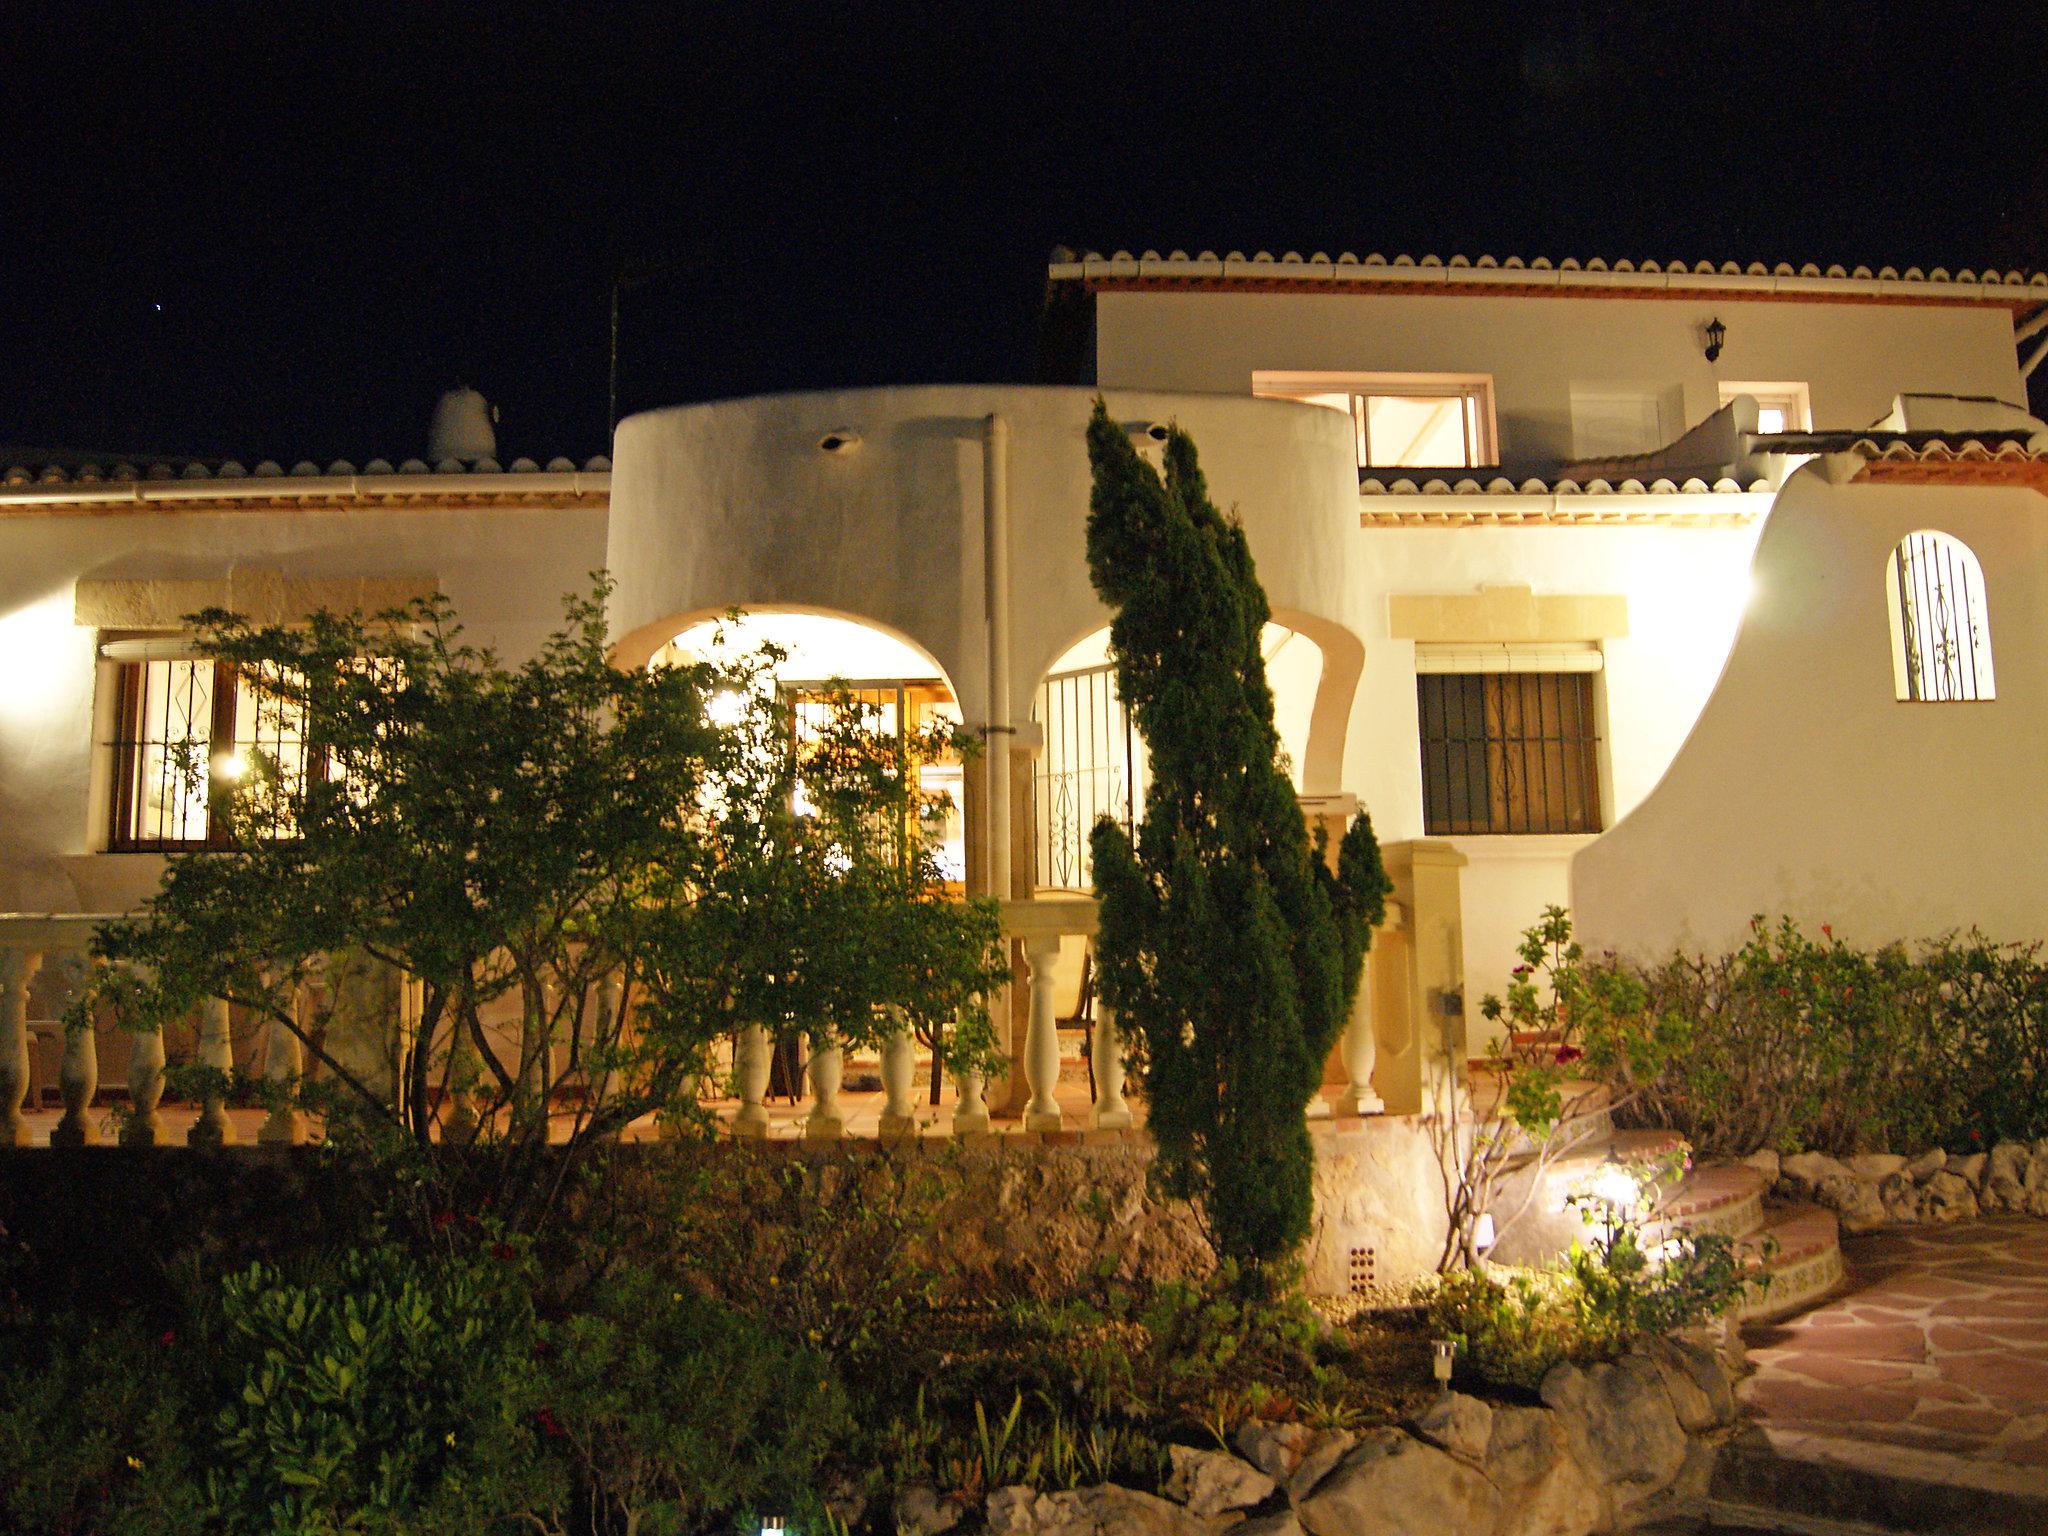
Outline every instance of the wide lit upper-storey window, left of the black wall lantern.
{"type": "Polygon", "coordinates": [[[1270,373],[1251,393],[1352,418],[1360,467],[1477,469],[1499,463],[1487,373],[1270,373]]]}

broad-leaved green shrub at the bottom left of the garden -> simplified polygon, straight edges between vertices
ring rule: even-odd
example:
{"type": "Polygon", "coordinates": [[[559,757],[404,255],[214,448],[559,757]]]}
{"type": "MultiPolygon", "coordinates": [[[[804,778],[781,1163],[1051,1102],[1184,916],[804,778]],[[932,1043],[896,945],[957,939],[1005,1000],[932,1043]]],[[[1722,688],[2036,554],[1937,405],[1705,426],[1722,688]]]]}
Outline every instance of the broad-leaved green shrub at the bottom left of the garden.
{"type": "Polygon", "coordinates": [[[219,1456],[231,1530],[483,1532],[559,1501],[532,1430],[532,1274],[510,1243],[350,1251],[223,1286],[219,1456]]]}

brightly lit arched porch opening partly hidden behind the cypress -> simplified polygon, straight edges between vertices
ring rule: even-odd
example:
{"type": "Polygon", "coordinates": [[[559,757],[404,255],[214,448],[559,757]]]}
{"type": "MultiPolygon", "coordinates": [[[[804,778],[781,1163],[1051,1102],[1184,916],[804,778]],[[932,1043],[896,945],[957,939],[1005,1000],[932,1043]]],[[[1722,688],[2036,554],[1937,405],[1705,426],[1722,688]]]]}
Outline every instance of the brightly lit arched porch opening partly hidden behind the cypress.
{"type": "MultiPolygon", "coordinates": [[[[1325,653],[1288,625],[1266,625],[1260,649],[1274,692],[1280,752],[1298,793],[1311,760],[1325,653]]],[[[1350,698],[1343,702],[1348,709],[1350,698]]],[[[1094,883],[1087,834],[1096,821],[1108,815],[1135,834],[1145,815],[1145,741],[1116,694],[1108,629],[1081,637],[1053,662],[1032,698],[1032,721],[1044,735],[1044,750],[1032,764],[1034,885],[1087,891],[1094,883]]]]}

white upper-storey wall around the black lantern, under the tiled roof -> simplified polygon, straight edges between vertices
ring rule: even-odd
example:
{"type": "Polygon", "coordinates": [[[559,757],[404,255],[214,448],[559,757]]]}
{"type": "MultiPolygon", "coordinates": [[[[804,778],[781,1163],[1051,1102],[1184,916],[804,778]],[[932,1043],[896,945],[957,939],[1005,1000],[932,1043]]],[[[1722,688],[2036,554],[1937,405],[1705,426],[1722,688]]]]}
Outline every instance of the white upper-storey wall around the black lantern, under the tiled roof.
{"type": "MultiPolygon", "coordinates": [[[[1571,391],[1681,391],[1683,426],[1718,381],[1804,381],[1815,426],[1870,426],[1901,391],[2023,401],[2005,307],[1722,297],[1552,299],[1384,293],[1100,293],[1110,389],[1247,393],[1255,369],[1489,373],[1505,463],[1573,457],[1571,391]],[[1718,317],[1718,362],[1700,328],[1718,317]]],[[[1673,434],[1675,436],[1675,434],[1673,434]]]]}

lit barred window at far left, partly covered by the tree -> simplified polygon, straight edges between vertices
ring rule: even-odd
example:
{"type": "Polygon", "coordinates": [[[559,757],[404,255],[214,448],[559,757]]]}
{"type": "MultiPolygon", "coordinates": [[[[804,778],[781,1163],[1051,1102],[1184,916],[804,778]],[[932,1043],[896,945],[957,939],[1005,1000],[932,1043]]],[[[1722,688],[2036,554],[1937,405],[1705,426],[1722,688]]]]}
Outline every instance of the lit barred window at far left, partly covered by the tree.
{"type": "Polygon", "coordinates": [[[287,786],[305,778],[295,713],[227,664],[199,657],[119,662],[113,754],[115,852],[223,844],[211,786],[250,772],[258,754],[287,786]]]}

